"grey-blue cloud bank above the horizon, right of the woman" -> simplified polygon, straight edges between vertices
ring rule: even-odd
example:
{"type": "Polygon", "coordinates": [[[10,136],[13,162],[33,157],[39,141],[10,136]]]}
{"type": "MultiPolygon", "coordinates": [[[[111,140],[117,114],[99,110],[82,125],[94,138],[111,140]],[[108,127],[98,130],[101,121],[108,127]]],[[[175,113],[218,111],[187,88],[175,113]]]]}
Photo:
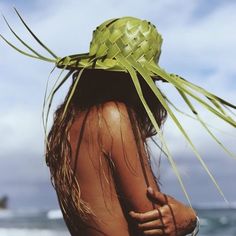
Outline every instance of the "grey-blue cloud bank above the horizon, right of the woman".
{"type": "MultiPolygon", "coordinates": [[[[183,159],[177,158],[176,161],[193,204],[224,202],[222,196],[196,158],[189,155],[183,159]]],[[[235,160],[228,157],[219,158],[219,156],[215,156],[214,159],[212,158],[211,161],[207,160],[206,162],[227,200],[234,202],[236,192],[232,190],[232,186],[234,186],[235,160]],[[219,171],[220,166],[221,171],[219,171]]],[[[165,158],[162,160],[160,181],[162,183],[162,191],[186,202],[180,184],[165,158]]]]}

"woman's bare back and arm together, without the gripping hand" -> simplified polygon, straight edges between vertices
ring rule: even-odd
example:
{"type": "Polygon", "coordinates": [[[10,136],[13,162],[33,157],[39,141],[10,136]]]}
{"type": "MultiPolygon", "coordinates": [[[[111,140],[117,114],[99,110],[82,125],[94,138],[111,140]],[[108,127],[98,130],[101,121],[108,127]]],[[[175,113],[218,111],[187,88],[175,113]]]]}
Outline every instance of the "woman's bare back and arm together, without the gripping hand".
{"type": "MultiPolygon", "coordinates": [[[[82,223],[81,228],[84,230],[81,235],[139,235],[127,213],[135,207],[142,211],[150,210],[152,205],[144,199],[147,183],[140,160],[132,159],[138,153],[126,106],[107,102],[99,108],[94,106],[79,112],[68,135],[72,148],[71,166],[80,186],[81,199],[89,204],[96,215],[86,225],[82,223]],[[129,140],[130,134],[133,140],[129,140]],[[120,141],[126,143],[120,146],[120,141]],[[112,156],[112,152],[115,155],[119,153],[121,162],[112,156]],[[125,152],[130,152],[132,157],[125,152]],[[133,196],[132,193],[124,191],[127,187],[133,188],[133,196]],[[139,195],[143,197],[139,198],[139,195]]],[[[145,166],[149,181],[154,187],[155,181],[147,160],[145,166]]]]}

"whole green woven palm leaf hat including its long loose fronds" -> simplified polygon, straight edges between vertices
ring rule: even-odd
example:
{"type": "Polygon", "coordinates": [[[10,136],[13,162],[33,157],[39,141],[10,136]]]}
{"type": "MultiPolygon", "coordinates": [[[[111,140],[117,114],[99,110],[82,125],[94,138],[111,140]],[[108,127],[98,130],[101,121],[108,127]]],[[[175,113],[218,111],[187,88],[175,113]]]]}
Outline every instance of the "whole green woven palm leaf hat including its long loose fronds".
{"type": "MultiPolygon", "coordinates": [[[[155,127],[159,138],[161,140],[162,146],[164,148],[164,153],[166,154],[178,180],[184,191],[188,201],[189,197],[185,190],[182,178],[179,174],[179,170],[175,164],[174,159],[165,143],[165,140],[160,132],[160,127],[157,124],[157,121],[154,118],[147,102],[142,93],[142,89],[138,80],[138,74],[141,75],[142,79],[146,81],[152,92],[156,95],[157,99],[161,102],[163,107],[167,110],[169,116],[172,118],[177,128],[183,134],[185,139],[190,144],[194,154],[198,158],[199,162],[206,170],[207,174],[215,184],[216,188],[220,194],[224,197],[222,190],[217,184],[215,178],[209,171],[204,160],[201,158],[199,152],[192,143],[187,132],[181,125],[180,121],[175,116],[173,109],[181,112],[180,109],[176,108],[172,101],[168,99],[168,96],[161,92],[160,88],[155,84],[155,80],[162,80],[173,85],[174,88],[178,91],[179,95],[182,97],[183,101],[187,104],[192,116],[197,119],[200,124],[205,128],[209,135],[232,157],[235,158],[235,155],[232,154],[225,146],[218,140],[218,138],[210,131],[208,124],[199,116],[198,111],[195,109],[192,100],[198,102],[205,109],[210,111],[215,116],[222,119],[224,122],[236,127],[236,121],[232,118],[234,113],[232,108],[236,109],[236,106],[228,101],[223,100],[222,98],[208,92],[207,90],[183,79],[182,77],[169,74],[158,65],[159,56],[161,53],[162,45],[162,36],[158,33],[156,27],[146,21],[134,17],[121,17],[117,19],[110,19],[99,25],[93,31],[92,41],[90,43],[90,49],[88,53],[75,54],[66,57],[58,57],[54,52],[52,52],[48,47],[46,47],[31,31],[25,21],[22,19],[18,11],[15,9],[18,17],[21,22],[24,24],[29,33],[34,37],[34,39],[52,56],[48,58],[42,54],[36,52],[28,44],[26,44],[11,28],[8,21],[4,18],[8,28],[15,35],[15,37],[22,43],[29,52],[23,51],[9,42],[2,35],[1,38],[12,48],[18,52],[40,60],[48,61],[55,63],[55,67],[62,69],[62,72],[69,70],[64,77],[58,77],[58,80],[54,84],[52,90],[50,91],[47,99],[44,100],[44,109],[46,108],[47,103],[47,112],[46,112],[46,124],[48,119],[48,113],[51,107],[51,103],[55,93],[58,89],[70,78],[75,71],[79,71],[76,82],[74,86],[76,87],[83,71],[86,69],[95,69],[95,70],[106,70],[106,71],[117,71],[129,73],[130,78],[133,81],[134,87],[139,95],[139,98],[147,112],[148,117],[150,118],[153,126],[155,127]]],[[[72,92],[67,100],[64,113],[66,112],[67,106],[70,102],[71,97],[75,88],[72,89],[72,92]]],[[[43,113],[44,114],[44,113],[43,113]]],[[[224,197],[225,199],[225,197],[224,197]]],[[[225,199],[226,200],[226,199],[225,199]]],[[[189,201],[190,202],[190,201],[189,201]]]]}

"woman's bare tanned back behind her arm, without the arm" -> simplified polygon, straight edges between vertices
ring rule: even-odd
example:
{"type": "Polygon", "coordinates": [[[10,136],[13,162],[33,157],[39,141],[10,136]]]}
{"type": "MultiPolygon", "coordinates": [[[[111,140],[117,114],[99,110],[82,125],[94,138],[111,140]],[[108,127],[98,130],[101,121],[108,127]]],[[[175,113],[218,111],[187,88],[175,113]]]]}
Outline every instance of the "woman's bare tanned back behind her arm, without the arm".
{"type": "MultiPolygon", "coordinates": [[[[101,153],[98,143],[98,126],[91,109],[86,118],[85,129],[76,161],[76,176],[79,182],[81,198],[88,202],[96,215],[88,222],[91,228],[84,235],[129,235],[128,226],[116,194],[109,160],[101,153]],[[91,132],[92,131],[92,132],[91,132]],[[96,225],[95,225],[96,223],[96,225]],[[93,228],[92,228],[93,227],[93,228]],[[103,233],[100,233],[103,232],[103,233]]],[[[73,166],[79,134],[83,127],[86,112],[79,113],[70,130],[73,166]]],[[[83,235],[83,234],[81,234],[83,235]]]]}

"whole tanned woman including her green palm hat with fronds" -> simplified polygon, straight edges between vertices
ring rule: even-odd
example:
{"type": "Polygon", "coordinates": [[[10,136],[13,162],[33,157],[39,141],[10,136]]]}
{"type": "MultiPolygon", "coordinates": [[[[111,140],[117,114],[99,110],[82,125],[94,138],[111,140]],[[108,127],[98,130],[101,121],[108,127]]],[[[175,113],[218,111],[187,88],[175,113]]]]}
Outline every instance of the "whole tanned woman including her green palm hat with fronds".
{"type": "MultiPolygon", "coordinates": [[[[194,211],[158,192],[158,183],[149,165],[146,139],[158,134],[187,196],[160,130],[167,113],[223,193],[172,112],[170,105],[176,108],[173,102],[155,81],[173,85],[196,119],[224,150],[190,98],[234,127],[236,122],[225,108],[236,106],[161,69],[157,62],[162,37],[150,22],[133,17],[108,20],[93,32],[89,53],[60,58],[35,36],[17,10],[16,13],[53,58],[41,55],[23,42],[7,21],[12,33],[32,54],[1,38],[24,55],[53,62],[63,71],[69,70],[49,94],[48,111],[55,93],[73,75],[70,90],[55,113],[46,142],[52,183],[71,234],[173,236],[191,232],[195,225],[194,211]],[[149,188],[148,195],[147,187],[152,189],[149,188]]],[[[46,121],[47,117],[48,112],[46,121]]]]}

